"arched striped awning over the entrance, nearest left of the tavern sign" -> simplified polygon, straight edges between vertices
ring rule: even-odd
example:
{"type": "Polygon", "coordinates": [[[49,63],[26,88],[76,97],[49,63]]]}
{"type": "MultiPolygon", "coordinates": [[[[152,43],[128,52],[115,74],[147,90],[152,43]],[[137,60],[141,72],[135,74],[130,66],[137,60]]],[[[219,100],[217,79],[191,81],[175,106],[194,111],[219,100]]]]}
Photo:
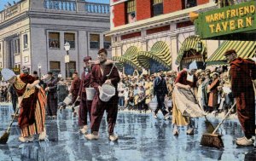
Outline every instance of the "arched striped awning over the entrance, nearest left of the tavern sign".
{"type": "MultiPolygon", "coordinates": [[[[183,55],[185,51],[189,51],[190,49],[197,50],[197,43],[199,43],[200,41],[201,41],[201,38],[196,35],[187,37],[183,41],[181,49],[178,50],[177,60],[175,61],[175,63],[177,65],[181,63],[181,61],[183,60],[183,55]]],[[[201,55],[204,55],[206,51],[207,51],[206,45],[202,43],[201,55]]]]}

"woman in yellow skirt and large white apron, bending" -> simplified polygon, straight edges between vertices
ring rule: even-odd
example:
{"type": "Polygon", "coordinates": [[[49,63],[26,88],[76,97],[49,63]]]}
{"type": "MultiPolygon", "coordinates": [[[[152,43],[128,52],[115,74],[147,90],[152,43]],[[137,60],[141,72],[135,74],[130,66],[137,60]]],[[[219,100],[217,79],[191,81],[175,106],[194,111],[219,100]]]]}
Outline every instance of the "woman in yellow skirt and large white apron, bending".
{"type": "Polygon", "coordinates": [[[199,118],[206,115],[195,98],[197,81],[195,71],[195,67],[189,66],[189,71],[183,70],[177,74],[172,93],[173,135],[178,135],[177,126],[187,126],[187,134],[194,135],[191,118],[199,118]]]}

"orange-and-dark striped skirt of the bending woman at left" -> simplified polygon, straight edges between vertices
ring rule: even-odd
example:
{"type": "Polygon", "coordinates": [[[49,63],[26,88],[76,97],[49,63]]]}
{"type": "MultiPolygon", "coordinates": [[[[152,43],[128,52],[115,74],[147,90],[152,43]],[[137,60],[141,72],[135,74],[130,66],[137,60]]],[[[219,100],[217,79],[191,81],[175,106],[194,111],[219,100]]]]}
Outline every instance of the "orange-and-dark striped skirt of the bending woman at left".
{"type": "Polygon", "coordinates": [[[38,100],[35,107],[35,123],[21,129],[21,136],[37,135],[44,131],[46,95],[44,89],[40,88],[38,100]]]}

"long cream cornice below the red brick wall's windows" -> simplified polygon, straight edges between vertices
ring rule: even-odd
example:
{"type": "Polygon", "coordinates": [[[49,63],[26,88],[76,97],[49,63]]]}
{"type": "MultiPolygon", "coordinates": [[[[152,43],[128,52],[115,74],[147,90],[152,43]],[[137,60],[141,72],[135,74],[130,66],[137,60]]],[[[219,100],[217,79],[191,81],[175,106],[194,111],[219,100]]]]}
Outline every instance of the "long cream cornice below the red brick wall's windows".
{"type": "Polygon", "coordinates": [[[116,35],[126,34],[130,32],[142,31],[143,29],[149,29],[149,28],[168,25],[172,23],[187,21],[189,20],[190,12],[200,13],[209,9],[214,9],[215,7],[216,7],[215,3],[202,4],[194,8],[183,9],[170,14],[162,14],[152,18],[148,18],[146,20],[139,20],[137,22],[127,24],[124,26],[114,27],[113,29],[111,29],[111,31],[105,32],[105,34],[107,36],[116,36],[116,35]]]}

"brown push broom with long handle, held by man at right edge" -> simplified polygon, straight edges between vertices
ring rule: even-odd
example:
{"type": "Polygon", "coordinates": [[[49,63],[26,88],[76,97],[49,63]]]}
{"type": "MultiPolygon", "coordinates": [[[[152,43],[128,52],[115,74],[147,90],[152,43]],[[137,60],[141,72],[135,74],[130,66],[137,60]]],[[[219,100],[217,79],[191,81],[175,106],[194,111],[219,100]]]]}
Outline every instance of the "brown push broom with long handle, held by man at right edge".
{"type": "Polygon", "coordinates": [[[200,144],[205,147],[216,147],[216,148],[222,148],[224,147],[224,143],[221,139],[221,135],[216,134],[216,131],[218,130],[219,126],[223,124],[224,120],[228,117],[230,112],[233,110],[233,108],[236,106],[236,102],[234,105],[230,108],[229,112],[226,113],[224,118],[221,120],[221,122],[218,124],[218,126],[214,129],[212,133],[205,133],[201,137],[200,144]]]}

